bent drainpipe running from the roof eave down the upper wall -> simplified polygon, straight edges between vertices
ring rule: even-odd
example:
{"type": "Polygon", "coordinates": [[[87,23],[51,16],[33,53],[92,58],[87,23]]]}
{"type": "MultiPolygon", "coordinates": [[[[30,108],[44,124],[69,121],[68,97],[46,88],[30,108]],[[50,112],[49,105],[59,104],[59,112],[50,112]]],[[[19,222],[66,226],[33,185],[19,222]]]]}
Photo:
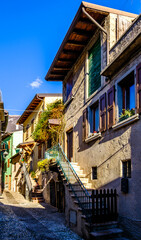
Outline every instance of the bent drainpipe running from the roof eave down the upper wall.
{"type": "Polygon", "coordinates": [[[106,40],[107,40],[107,65],[109,63],[109,44],[108,44],[108,33],[107,31],[94,19],[91,17],[89,13],[86,12],[85,8],[82,7],[82,12],[98,27],[102,32],[106,34],[106,40]]]}

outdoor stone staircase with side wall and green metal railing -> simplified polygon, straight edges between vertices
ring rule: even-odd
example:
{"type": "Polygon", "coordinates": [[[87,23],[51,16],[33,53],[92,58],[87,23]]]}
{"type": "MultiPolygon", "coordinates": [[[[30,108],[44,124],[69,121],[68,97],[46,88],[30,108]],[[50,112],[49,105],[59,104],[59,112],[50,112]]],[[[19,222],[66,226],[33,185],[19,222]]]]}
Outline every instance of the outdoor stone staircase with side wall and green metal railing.
{"type": "MultiPolygon", "coordinates": [[[[111,218],[113,215],[108,216],[108,222],[99,224],[92,223],[92,184],[89,182],[88,177],[78,163],[69,162],[59,144],[50,148],[47,154],[48,158],[56,159],[57,167],[64,182],[66,202],[65,218],[68,225],[85,239],[127,240],[127,238],[122,237],[123,231],[118,227],[118,223],[113,222],[113,220],[112,222],[109,222],[110,219],[113,219],[111,218]]],[[[107,191],[109,192],[109,190],[107,191]]],[[[112,193],[113,190],[111,191],[111,196],[113,198],[112,193]]],[[[97,191],[97,194],[98,195],[93,195],[96,207],[93,209],[95,211],[94,222],[96,222],[96,220],[104,222],[102,218],[105,215],[103,215],[104,212],[101,214],[101,211],[106,211],[105,209],[107,208],[107,211],[109,212],[110,208],[102,202],[102,191],[97,191]],[[99,212],[99,215],[97,215],[97,211],[99,212]],[[97,216],[100,216],[100,219],[96,219],[97,216]]]]}

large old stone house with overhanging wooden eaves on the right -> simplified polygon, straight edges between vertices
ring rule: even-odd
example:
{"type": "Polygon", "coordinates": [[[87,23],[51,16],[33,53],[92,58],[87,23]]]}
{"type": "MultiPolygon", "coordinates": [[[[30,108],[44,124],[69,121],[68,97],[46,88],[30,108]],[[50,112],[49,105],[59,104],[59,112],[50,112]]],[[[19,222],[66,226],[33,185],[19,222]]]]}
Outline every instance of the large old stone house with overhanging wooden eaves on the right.
{"type": "MultiPolygon", "coordinates": [[[[137,239],[141,234],[140,42],[140,15],[82,2],[46,75],[47,81],[63,81],[63,149],[68,160],[76,172],[85,174],[80,179],[87,189],[117,189],[121,223],[131,234],[138,229],[137,239]]],[[[71,208],[80,214],[74,205],[71,200],[66,203],[67,216],[71,208]]],[[[79,218],[74,227],[79,234],[82,225],[79,218]]]]}

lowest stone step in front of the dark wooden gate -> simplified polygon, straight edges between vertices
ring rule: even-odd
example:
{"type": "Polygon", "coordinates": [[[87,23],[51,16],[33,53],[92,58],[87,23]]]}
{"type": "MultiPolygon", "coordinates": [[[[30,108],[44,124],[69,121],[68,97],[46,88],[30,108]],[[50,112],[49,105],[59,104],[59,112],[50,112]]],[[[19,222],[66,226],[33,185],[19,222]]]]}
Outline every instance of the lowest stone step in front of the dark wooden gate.
{"type": "Polygon", "coordinates": [[[111,228],[111,229],[106,229],[106,230],[101,230],[101,231],[93,231],[90,233],[90,236],[93,239],[102,239],[104,237],[115,237],[119,234],[123,233],[123,230],[121,230],[120,228],[111,228]]]}

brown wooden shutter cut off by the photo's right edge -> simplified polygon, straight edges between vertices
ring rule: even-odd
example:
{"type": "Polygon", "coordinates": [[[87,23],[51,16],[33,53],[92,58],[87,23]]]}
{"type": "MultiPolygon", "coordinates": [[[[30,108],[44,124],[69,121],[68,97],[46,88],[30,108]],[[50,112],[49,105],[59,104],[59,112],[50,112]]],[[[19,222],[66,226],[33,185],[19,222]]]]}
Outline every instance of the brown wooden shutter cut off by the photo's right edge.
{"type": "Polygon", "coordinates": [[[141,113],[141,63],[136,68],[137,112],[141,113]]]}

